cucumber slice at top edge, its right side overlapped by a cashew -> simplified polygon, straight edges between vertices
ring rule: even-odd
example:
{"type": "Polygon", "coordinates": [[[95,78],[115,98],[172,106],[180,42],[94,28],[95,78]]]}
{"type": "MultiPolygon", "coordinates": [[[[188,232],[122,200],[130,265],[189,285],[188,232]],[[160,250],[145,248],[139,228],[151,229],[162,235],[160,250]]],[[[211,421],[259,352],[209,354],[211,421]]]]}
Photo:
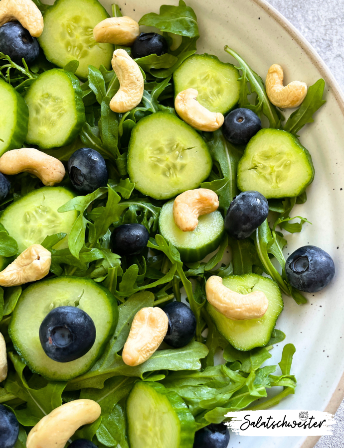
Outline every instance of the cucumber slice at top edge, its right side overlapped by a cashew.
{"type": "Polygon", "coordinates": [[[44,30],[38,42],[46,58],[58,67],[79,61],[75,74],[86,79],[90,64],[111,68],[114,46],[93,38],[93,28],[108,17],[97,0],[57,0],[43,14],[44,30]]]}

